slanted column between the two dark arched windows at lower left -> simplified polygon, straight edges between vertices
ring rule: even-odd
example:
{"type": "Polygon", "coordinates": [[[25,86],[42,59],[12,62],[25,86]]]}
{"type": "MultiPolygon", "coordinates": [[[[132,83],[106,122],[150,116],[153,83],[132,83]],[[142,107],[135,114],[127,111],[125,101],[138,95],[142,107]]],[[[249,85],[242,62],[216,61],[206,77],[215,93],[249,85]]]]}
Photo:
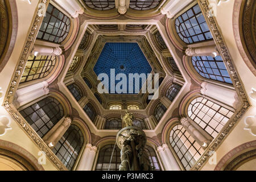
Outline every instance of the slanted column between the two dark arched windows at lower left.
{"type": "Polygon", "coordinates": [[[68,127],[71,125],[72,119],[67,117],[61,123],[59,127],[51,134],[51,136],[47,139],[47,144],[50,148],[53,148],[57,142],[59,142],[60,138],[67,131],[68,127]]]}

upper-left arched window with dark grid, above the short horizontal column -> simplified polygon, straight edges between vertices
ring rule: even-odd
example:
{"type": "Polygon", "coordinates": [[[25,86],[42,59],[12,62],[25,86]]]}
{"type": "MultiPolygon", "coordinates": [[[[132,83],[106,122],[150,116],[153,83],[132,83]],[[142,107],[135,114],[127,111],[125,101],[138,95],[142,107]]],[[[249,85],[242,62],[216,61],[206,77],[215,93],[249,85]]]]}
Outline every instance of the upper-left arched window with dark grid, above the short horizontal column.
{"type": "Polygon", "coordinates": [[[37,38],[59,44],[67,37],[69,28],[68,16],[49,4],[37,38]]]}

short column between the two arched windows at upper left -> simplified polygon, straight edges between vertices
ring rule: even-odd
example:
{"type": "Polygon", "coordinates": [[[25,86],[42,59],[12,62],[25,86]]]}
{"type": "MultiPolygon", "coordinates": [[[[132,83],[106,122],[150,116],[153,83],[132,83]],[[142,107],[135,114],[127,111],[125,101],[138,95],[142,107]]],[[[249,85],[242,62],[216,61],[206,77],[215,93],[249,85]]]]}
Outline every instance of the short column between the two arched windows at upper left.
{"type": "Polygon", "coordinates": [[[62,54],[62,49],[60,47],[34,45],[32,49],[32,55],[34,56],[40,56],[40,55],[59,56],[61,54],[62,54]]]}

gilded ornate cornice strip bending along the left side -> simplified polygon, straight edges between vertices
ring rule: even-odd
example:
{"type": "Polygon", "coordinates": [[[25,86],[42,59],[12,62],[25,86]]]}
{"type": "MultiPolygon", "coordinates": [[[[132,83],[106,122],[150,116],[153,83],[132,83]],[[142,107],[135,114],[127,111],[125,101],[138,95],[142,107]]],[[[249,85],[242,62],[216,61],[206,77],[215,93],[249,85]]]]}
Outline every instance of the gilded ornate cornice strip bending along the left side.
{"type": "MultiPolygon", "coordinates": [[[[43,3],[48,6],[49,0],[41,0],[39,3],[43,3]]],[[[3,102],[3,107],[9,112],[9,114],[14,118],[14,120],[19,124],[20,127],[27,133],[27,135],[34,141],[40,150],[45,152],[48,159],[55,165],[59,170],[67,170],[64,164],[57,158],[57,156],[52,152],[52,150],[44,143],[43,139],[35,132],[34,129],[29,125],[29,123],[20,115],[19,111],[16,110],[15,106],[12,104],[14,92],[18,88],[18,83],[20,77],[22,76],[24,67],[26,66],[28,56],[35,42],[36,35],[38,34],[40,24],[43,21],[43,16],[39,16],[39,8],[36,10],[36,15],[34,22],[29,31],[26,43],[24,44],[23,51],[20,55],[18,65],[16,66],[16,71],[14,72],[13,78],[11,79],[9,88],[7,89],[7,94],[5,101],[3,102]]]]}

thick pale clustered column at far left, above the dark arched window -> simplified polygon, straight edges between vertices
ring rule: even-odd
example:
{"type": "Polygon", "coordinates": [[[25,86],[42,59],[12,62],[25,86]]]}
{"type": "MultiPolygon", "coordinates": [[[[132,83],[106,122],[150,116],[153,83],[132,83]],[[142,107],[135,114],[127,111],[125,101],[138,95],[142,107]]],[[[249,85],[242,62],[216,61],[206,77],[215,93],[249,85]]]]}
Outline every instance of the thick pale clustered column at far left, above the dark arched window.
{"type": "Polygon", "coordinates": [[[14,105],[16,108],[34,101],[39,97],[45,96],[49,93],[48,82],[42,81],[38,84],[20,88],[15,93],[14,105]]]}

